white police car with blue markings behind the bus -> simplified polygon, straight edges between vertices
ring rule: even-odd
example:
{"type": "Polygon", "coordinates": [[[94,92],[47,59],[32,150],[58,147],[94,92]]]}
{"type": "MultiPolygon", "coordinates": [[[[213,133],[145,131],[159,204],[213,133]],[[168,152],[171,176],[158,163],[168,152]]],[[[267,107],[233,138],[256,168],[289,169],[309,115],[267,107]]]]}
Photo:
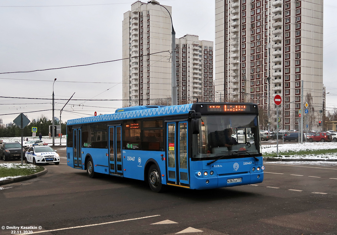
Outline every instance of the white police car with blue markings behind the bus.
{"type": "Polygon", "coordinates": [[[39,163],[55,163],[60,164],[60,156],[56,153],[56,150],[49,146],[32,146],[25,154],[25,163],[33,163],[34,165],[39,163]]]}

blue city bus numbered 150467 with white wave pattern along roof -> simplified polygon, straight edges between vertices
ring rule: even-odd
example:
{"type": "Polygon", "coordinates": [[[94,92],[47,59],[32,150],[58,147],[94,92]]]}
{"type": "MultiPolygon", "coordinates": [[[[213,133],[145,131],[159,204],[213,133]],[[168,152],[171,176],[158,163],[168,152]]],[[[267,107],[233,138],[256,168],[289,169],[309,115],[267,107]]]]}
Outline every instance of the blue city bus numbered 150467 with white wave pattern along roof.
{"type": "Polygon", "coordinates": [[[263,181],[258,108],[251,103],[133,106],[67,121],[67,164],[166,185],[213,189],[263,181]]]}

